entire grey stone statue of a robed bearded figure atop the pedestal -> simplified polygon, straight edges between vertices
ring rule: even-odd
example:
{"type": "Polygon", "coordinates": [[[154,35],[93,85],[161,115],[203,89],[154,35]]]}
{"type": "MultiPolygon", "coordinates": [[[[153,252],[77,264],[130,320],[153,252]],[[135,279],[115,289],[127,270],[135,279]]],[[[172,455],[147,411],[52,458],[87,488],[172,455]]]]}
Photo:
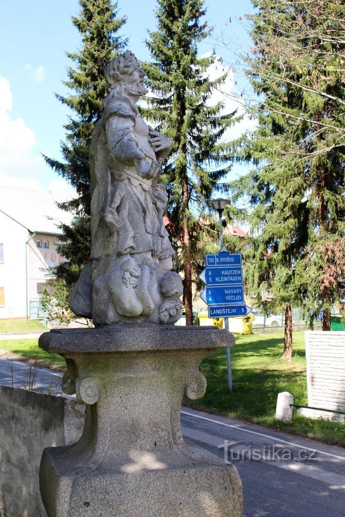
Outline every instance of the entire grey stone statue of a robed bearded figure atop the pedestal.
{"type": "Polygon", "coordinates": [[[70,307],[95,325],[174,323],[183,288],[171,271],[174,250],[162,219],[168,196],[157,183],[172,141],[138,111],[147,90],[130,51],[105,75],[109,94],[90,148],[92,267],[83,269],[70,307]]]}

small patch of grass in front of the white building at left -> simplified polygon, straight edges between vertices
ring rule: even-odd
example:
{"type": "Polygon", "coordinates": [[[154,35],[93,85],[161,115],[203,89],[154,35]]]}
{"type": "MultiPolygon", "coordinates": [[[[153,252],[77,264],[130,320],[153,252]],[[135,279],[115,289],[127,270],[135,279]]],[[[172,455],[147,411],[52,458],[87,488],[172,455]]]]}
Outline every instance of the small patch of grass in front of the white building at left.
{"type": "Polygon", "coordinates": [[[36,361],[38,366],[65,370],[65,360],[57,354],[47,354],[38,347],[38,339],[7,339],[0,341],[0,355],[36,361]]]}

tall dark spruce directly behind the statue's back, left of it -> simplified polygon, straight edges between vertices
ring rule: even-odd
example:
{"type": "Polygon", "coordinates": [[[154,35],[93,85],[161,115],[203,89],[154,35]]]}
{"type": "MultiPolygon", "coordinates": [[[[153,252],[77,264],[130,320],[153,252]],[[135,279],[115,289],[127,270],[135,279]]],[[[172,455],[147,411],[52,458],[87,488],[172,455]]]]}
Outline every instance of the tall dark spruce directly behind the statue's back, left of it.
{"type": "Polygon", "coordinates": [[[79,277],[80,270],[89,260],[90,232],[90,179],[88,169],[89,145],[94,124],[102,111],[102,100],[107,87],[104,67],[125,47],[121,31],[126,19],[118,18],[117,2],[111,0],[79,0],[79,16],[72,23],[81,34],[82,45],[77,52],[67,52],[73,66],[67,70],[68,80],[63,81],[71,93],[56,95],[72,115],[64,126],[66,139],[61,142],[63,161],[44,157],[59,175],[76,189],[74,199],[59,204],[76,214],[70,225],[61,226],[64,237],[58,252],[68,259],[56,268],[56,275],[68,284],[79,277]]]}

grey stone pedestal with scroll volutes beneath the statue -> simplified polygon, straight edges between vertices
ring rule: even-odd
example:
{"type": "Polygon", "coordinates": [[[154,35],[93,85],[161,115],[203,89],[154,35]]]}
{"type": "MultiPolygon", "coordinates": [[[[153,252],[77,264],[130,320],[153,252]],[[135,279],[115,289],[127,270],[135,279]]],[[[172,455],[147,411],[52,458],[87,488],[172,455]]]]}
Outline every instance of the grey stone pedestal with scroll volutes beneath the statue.
{"type": "Polygon", "coordinates": [[[232,346],[215,327],[52,330],[39,346],[66,359],[63,389],[86,404],[80,440],[45,449],[40,490],[49,517],[239,517],[237,470],[186,443],[183,394],[203,396],[201,359],[232,346]]]}

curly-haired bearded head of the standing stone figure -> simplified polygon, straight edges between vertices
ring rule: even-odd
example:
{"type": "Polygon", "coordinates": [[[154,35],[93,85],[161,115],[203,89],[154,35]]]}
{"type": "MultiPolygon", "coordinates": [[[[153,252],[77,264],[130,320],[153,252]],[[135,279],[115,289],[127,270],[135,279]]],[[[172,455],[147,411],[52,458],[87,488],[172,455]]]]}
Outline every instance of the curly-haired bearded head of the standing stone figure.
{"type": "Polygon", "coordinates": [[[104,76],[109,92],[115,90],[116,95],[140,97],[147,94],[144,87],[144,71],[130,50],[113,59],[107,66],[104,76]]]}

